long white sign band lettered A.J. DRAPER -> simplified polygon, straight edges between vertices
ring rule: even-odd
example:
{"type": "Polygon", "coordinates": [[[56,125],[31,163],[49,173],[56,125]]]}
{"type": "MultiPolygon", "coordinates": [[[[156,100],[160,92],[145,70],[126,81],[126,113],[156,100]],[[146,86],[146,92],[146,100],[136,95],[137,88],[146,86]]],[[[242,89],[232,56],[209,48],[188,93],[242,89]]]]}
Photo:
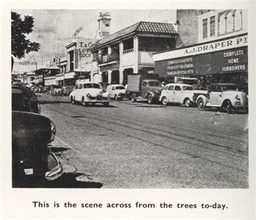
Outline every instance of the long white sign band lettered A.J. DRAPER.
{"type": "Polygon", "coordinates": [[[153,61],[161,61],[167,59],[180,58],[184,56],[205,54],[210,52],[223,51],[225,49],[233,49],[248,45],[248,36],[230,38],[221,41],[214,41],[208,44],[200,44],[197,46],[175,49],[164,53],[153,54],[153,61]]]}

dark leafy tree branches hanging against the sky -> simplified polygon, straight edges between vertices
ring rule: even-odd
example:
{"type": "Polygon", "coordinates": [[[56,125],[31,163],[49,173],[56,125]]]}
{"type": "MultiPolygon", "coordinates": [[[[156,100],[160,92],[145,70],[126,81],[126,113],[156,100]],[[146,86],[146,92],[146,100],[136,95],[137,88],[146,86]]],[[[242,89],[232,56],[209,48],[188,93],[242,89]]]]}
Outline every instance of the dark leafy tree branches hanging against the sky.
{"type": "Polygon", "coordinates": [[[11,72],[14,66],[14,57],[25,58],[25,54],[38,51],[40,44],[31,42],[26,36],[33,31],[34,19],[32,16],[21,18],[16,12],[11,12],[11,72]]]}

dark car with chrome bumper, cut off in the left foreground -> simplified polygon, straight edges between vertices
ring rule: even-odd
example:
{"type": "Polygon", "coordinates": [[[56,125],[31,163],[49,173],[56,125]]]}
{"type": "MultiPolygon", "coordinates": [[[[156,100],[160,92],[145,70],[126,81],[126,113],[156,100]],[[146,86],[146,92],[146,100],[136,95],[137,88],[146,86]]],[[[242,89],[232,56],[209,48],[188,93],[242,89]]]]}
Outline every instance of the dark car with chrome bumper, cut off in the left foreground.
{"type": "Polygon", "coordinates": [[[49,148],[55,124],[40,115],[32,90],[12,86],[12,187],[38,187],[63,173],[62,165],[49,148]]]}

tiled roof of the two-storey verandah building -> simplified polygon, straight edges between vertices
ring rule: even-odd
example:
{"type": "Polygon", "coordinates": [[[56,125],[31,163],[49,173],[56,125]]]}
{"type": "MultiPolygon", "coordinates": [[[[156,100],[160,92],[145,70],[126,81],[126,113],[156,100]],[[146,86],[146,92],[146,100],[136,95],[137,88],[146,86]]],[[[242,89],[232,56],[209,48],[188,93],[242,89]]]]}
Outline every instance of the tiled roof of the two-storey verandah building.
{"type": "Polygon", "coordinates": [[[94,47],[106,44],[107,42],[116,40],[118,38],[125,37],[127,34],[134,32],[141,33],[157,33],[157,34],[173,34],[177,35],[178,33],[174,29],[172,24],[169,23],[156,23],[156,22],[138,22],[132,26],[126,27],[123,30],[120,30],[116,33],[111,34],[103,39],[97,40],[94,47]]]}

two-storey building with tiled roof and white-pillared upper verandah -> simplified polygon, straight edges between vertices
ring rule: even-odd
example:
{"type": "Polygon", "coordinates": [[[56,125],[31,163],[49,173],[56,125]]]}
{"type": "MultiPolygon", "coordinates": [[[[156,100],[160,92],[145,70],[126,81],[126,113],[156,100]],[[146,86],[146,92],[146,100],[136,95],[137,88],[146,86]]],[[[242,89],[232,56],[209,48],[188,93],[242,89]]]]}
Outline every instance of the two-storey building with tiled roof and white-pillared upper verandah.
{"type": "MultiPolygon", "coordinates": [[[[104,25],[109,27],[110,20],[104,25]]],[[[92,47],[91,81],[125,85],[129,74],[154,73],[152,54],[175,48],[177,36],[172,24],[138,22],[97,40],[92,47]]]]}

